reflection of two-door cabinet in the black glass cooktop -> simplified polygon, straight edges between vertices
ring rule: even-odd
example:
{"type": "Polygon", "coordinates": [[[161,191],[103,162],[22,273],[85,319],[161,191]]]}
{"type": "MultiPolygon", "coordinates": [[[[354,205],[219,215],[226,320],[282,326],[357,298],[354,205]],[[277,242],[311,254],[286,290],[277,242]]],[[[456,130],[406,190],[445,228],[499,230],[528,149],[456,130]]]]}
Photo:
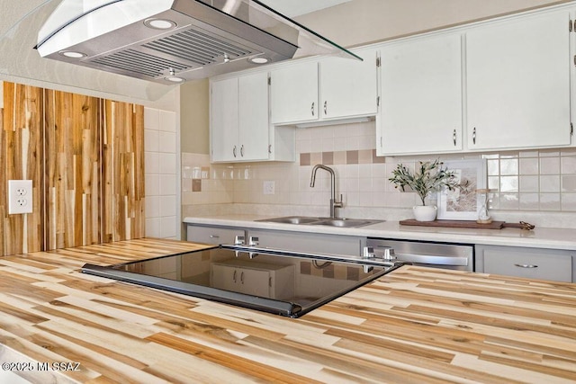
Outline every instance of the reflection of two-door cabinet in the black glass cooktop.
{"type": "Polygon", "coordinates": [[[293,298],[294,265],[227,260],[211,264],[211,286],[268,299],[293,298]]]}

